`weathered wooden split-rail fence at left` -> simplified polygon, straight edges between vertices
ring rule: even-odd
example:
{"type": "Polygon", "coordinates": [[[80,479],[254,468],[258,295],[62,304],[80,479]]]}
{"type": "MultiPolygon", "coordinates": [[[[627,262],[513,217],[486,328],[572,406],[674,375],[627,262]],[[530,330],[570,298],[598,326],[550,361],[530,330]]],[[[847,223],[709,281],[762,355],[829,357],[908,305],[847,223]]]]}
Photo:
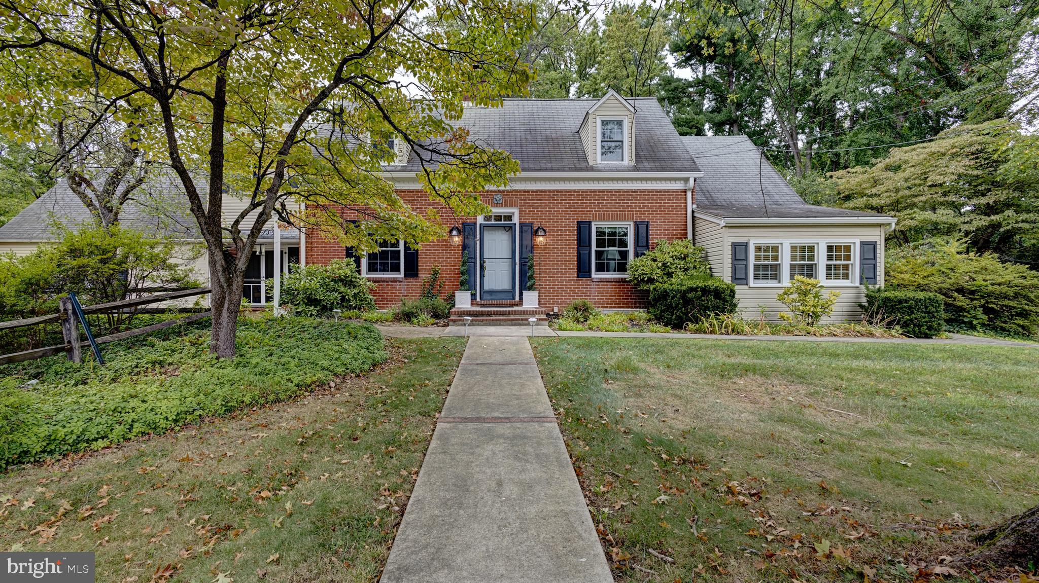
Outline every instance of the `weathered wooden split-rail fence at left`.
{"type": "MultiPolygon", "coordinates": [[[[155,296],[134,298],[132,300],[119,300],[117,302],[108,302],[106,304],[83,306],[82,310],[84,314],[114,313],[123,310],[136,308],[139,306],[155,304],[158,302],[178,300],[181,298],[190,298],[192,296],[202,296],[203,294],[209,294],[209,293],[210,293],[209,287],[196,287],[194,289],[180,289],[177,292],[169,292],[166,294],[157,294],[155,296]]],[[[27,326],[37,326],[41,324],[60,322],[61,335],[64,337],[64,343],[53,346],[44,346],[42,349],[22,351],[20,353],[0,355],[0,364],[10,364],[12,362],[35,360],[37,358],[53,356],[60,353],[65,353],[66,355],[69,355],[69,360],[73,362],[76,363],[83,362],[83,346],[89,348],[90,343],[88,341],[81,341],[79,339],[80,322],[79,322],[79,316],[76,315],[76,310],[73,308],[72,300],[70,298],[62,298],[59,304],[60,304],[60,311],[56,314],[27,317],[25,320],[14,320],[10,322],[0,322],[0,332],[4,330],[14,330],[16,328],[25,328],[27,326]]],[[[96,344],[104,344],[106,342],[125,340],[127,338],[133,338],[134,336],[140,336],[142,334],[150,334],[152,332],[156,332],[158,330],[163,330],[165,328],[170,328],[181,324],[190,324],[192,322],[197,322],[204,317],[209,317],[212,314],[213,312],[211,310],[201,313],[193,313],[185,317],[170,320],[166,322],[160,322],[159,324],[153,324],[152,326],[145,326],[143,328],[137,328],[134,330],[127,330],[125,332],[109,334],[107,336],[101,336],[99,338],[95,338],[94,342],[96,344]]]]}

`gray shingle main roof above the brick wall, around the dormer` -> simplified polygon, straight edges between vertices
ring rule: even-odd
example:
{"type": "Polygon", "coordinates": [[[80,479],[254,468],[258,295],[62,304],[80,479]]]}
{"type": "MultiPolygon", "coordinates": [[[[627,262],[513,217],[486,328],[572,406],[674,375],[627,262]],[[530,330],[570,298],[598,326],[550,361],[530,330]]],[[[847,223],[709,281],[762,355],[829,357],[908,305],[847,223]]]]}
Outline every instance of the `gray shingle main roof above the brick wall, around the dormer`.
{"type": "MultiPolygon", "coordinates": [[[[456,127],[483,147],[503,149],[524,172],[696,172],[696,163],[654,98],[634,100],[635,165],[588,164],[579,134],[585,113],[598,100],[503,100],[501,107],[468,107],[456,127]]],[[[632,101],[629,101],[632,103],[632,101]]],[[[395,171],[421,168],[411,155],[395,171]]]]}

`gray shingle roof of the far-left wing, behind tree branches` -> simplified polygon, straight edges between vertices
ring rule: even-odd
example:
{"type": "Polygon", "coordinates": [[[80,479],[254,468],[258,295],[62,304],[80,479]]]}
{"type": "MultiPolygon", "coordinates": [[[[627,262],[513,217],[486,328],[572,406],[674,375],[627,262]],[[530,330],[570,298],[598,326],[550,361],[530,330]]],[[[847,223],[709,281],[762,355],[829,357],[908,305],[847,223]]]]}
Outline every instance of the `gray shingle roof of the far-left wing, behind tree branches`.
{"type": "MultiPolygon", "coordinates": [[[[175,181],[165,174],[153,175],[134,192],[135,200],[127,201],[121,224],[154,237],[201,239],[197,223],[187,211],[186,198],[181,194],[183,188],[175,181]]],[[[198,188],[207,187],[201,183],[198,188]]],[[[90,212],[69,188],[68,181],[60,178],[17,217],[0,226],[0,241],[53,241],[56,224],[75,228],[91,220],[90,212]]]]}

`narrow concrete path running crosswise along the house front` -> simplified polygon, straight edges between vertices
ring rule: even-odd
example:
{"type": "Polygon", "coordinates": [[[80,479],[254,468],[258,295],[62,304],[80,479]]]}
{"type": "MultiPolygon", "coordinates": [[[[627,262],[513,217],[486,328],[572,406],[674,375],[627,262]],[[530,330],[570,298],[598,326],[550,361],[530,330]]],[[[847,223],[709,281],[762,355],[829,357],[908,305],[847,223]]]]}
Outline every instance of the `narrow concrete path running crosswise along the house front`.
{"type": "MultiPolygon", "coordinates": [[[[397,338],[428,338],[431,336],[462,336],[465,331],[460,326],[452,327],[418,327],[418,326],[378,326],[385,336],[397,338]]],[[[487,336],[530,336],[530,326],[470,326],[471,337],[487,336]]],[[[989,346],[1022,346],[1039,348],[1039,344],[1017,340],[986,338],[966,334],[949,334],[948,338],[854,338],[834,336],[737,336],[728,334],[684,334],[682,332],[567,332],[553,330],[548,326],[535,326],[535,336],[583,336],[604,338],[675,338],[684,340],[760,340],[760,341],[794,341],[794,342],[867,342],[867,343],[904,343],[904,344],[973,344],[989,346]]]]}

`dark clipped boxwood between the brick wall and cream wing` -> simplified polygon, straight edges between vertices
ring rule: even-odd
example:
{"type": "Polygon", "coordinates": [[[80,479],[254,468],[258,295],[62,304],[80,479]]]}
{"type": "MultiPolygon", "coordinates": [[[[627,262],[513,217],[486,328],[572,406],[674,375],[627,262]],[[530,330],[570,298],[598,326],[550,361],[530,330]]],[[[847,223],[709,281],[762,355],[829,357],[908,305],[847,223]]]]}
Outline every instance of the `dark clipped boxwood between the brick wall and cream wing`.
{"type": "Polygon", "coordinates": [[[736,285],[709,275],[678,277],[649,288],[649,315],[671,328],[684,328],[712,314],[737,310],[736,285]]]}

